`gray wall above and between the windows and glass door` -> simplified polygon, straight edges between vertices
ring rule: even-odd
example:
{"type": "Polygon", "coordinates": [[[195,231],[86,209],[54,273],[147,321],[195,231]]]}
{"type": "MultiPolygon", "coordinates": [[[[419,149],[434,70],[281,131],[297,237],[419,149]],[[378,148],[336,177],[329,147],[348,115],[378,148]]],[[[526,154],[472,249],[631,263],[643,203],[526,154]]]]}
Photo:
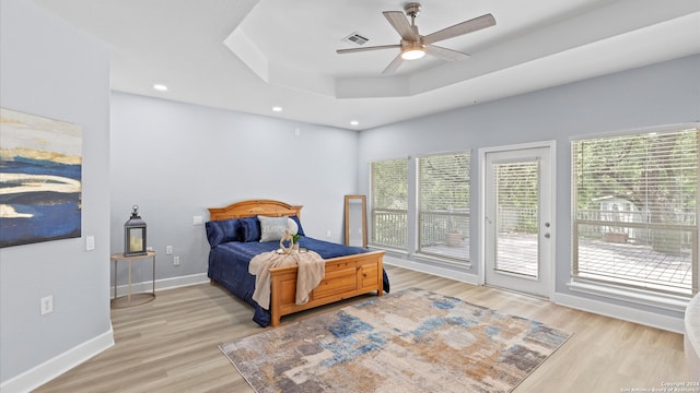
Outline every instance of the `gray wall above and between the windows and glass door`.
{"type": "MultiPolygon", "coordinates": [[[[699,70],[700,56],[693,56],[364,131],[359,190],[369,194],[369,162],[470,148],[471,211],[477,212],[479,148],[556,140],[556,289],[570,293],[571,138],[700,120],[699,70]]],[[[471,224],[469,273],[478,274],[476,245],[482,239],[476,219],[471,224]]]]}

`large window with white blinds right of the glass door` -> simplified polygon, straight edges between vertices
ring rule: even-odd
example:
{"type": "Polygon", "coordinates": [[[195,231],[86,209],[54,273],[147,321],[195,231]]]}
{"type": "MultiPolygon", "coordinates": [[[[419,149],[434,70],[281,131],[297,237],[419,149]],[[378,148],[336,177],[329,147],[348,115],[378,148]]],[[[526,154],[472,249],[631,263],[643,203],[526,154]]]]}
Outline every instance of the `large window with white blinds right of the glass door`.
{"type": "Polygon", "coordinates": [[[698,293],[698,134],[572,143],[574,283],[698,293]]]}

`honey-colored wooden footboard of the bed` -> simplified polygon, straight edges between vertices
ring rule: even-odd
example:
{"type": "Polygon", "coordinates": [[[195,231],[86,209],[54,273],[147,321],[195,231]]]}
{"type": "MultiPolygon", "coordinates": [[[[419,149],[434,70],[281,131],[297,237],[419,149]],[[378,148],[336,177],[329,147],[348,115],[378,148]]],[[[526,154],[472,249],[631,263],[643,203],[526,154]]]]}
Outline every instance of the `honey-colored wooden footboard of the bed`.
{"type": "Polygon", "coordinates": [[[358,295],[376,291],[377,296],[382,296],[383,257],[384,251],[373,251],[328,260],[326,276],[311,293],[305,305],[295,303],[298,267],[294,265],[270,269],[271,325],[279,325],[282,315],[358,295]]]}

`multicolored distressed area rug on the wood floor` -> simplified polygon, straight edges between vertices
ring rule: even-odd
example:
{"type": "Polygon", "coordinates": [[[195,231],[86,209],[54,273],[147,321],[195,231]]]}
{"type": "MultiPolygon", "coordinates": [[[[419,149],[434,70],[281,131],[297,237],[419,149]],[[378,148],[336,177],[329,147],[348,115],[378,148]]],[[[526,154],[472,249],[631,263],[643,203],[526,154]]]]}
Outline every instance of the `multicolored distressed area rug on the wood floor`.
{"type": "Polygon", "coordinates": [[[569,334],[405,289],[220,345],[262,392],[510,392],[569,334]]]}

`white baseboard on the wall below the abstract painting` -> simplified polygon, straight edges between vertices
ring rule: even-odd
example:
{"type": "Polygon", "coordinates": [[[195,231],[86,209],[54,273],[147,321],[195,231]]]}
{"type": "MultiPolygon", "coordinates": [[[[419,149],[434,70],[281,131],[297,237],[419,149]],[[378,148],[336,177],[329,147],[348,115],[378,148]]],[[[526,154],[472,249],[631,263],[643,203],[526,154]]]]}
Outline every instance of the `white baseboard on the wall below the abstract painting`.
{"type": "Polygon", "coordinates": [[[2,382],[0,392],[31,392],[112,346],[114,346],[114,332],[109,325],[109,331],[2,382]]]}

